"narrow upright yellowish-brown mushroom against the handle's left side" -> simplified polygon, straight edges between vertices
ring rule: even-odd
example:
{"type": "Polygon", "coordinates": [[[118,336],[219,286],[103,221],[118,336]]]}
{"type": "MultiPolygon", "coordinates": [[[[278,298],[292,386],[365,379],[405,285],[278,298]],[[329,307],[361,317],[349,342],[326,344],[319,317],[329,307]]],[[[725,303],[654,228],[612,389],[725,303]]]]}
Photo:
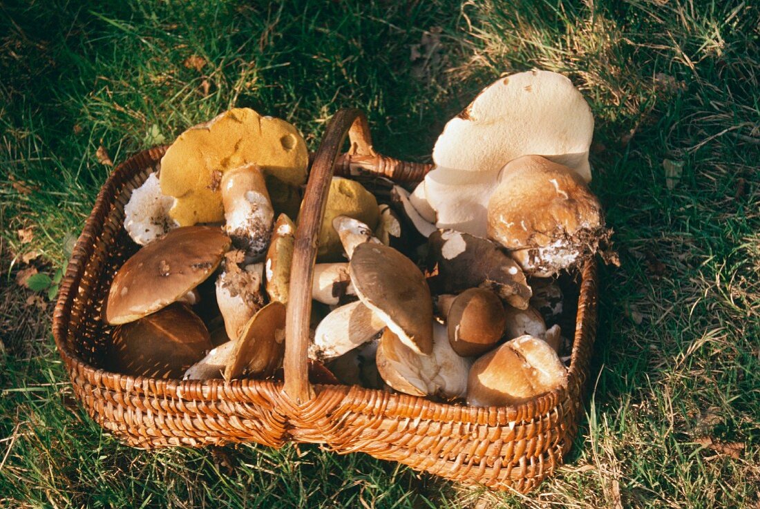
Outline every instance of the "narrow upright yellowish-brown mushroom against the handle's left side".
{"type": "Polygon", "coordinates": [[[296,225],[285,214],[277,217],[272,231],[271,244],[267,250],[264,273],[267,280],[267,294],[271,300],[287,304],[290,286],[290,264],[296,244],[296,225]]]}

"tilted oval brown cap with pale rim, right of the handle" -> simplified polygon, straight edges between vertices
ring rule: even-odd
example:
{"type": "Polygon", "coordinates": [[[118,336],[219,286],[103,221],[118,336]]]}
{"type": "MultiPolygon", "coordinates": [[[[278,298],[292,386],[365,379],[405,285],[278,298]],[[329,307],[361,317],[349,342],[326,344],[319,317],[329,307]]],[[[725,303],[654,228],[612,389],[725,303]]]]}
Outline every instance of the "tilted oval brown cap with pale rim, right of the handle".
{"type": "Polygon", "coordinates": [[[359,300],[416,353],[431,353],[432,298],[414,262],[387,245],[364,243],[348,268],[359,300]]]}

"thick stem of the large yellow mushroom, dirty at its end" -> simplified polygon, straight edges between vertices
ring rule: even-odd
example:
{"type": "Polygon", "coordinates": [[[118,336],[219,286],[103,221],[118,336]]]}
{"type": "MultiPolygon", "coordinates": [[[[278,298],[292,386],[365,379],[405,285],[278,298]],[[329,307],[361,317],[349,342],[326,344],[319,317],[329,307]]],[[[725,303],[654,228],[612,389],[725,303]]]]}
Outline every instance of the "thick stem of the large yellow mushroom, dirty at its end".
{"type": "Polygon", "coordinates": [[[246,257],[258,258],[269,245],[274,210],[264,175],[255,163],[225,172],[221,180],[224,231],[246,257]]]}

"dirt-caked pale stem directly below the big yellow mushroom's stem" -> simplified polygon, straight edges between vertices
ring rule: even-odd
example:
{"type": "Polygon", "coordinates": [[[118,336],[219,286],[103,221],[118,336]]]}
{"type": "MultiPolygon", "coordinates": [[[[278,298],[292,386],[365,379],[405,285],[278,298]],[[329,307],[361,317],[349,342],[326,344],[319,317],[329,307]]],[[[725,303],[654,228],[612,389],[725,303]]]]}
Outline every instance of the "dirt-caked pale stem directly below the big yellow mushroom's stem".
{"type": "Polygon", "coordinates": [[[264,305],[264,264],[240,267],[242,251],[230,251],[224,257],[222,272],[217,277],[217,305],[224,318],[227,337],[239,337],[245,325],[264,305]]]}

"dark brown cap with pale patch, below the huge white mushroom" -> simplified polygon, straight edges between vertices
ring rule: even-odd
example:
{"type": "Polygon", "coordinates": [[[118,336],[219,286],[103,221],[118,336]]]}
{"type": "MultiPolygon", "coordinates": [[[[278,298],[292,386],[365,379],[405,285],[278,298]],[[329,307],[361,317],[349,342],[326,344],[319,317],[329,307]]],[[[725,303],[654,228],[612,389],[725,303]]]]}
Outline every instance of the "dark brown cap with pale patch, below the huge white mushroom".
{"type": "Polygon", "coordinates": [[[490,289],[509,305],[527,308],[530,286],[518,264],[494,242],[451,230],[428,238],[427,274],[435,294],[490,289]]]}

